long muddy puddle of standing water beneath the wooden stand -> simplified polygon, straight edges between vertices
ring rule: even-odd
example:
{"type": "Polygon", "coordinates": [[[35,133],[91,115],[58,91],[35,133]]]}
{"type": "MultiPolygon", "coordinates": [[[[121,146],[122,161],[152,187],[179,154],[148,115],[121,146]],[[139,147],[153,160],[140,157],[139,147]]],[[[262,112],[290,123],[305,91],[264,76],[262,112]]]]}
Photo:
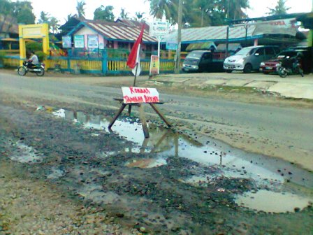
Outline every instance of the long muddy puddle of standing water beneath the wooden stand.
{"type": "MultiPolygon", "coordinates": [[[[152,157],[146,155],[141,159],[128,159],[124,166],[129,168],[149,169],[163,166],[167,164],[168,157],[174,156],[190,159],[203,167],[214,169],[209,174],[193,173],[192,176],[178,179],[189,185],[205,187],[221,177],[252,180],[257,190],[233,195],[238,206],[255,211],[286,213],[312,205],[312,173],[282,159],[243,152],[204,136],[180,134],[150,122],[150,138],[145,138],[140,123],[132,118],[117,120],[112,130],[109,130],[110,120],[100,115],[64,109],[54,112],[53,115],[80,124],[85,129],[106,133],[113,131],[114,134],[131,141],[131,145],[125,146],[120,152],[154,154],[152,157]]],[[[116,154],[117,152],[99,152],[102,157],[116,154]]],[[[219,191],[224,192],[225,189],[220,188],[219,191]]]]}

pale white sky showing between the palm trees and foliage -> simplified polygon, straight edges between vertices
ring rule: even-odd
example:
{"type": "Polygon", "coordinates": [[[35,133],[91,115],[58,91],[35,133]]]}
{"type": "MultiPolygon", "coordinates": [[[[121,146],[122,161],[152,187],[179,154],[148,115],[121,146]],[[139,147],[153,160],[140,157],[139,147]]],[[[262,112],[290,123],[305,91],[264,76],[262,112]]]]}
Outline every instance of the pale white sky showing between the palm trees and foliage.
{"type": "MultiPolygon", "coordinates": [[[[16,1],[16,0],[13,0],[16,1]]],[[[61,24],[66,22],[67,15],[76,13],[77,0],[28,0],[32,2],[34,13],[38,18],[41,11],[50,13],[51,16],[57,17],[61,24]]],[[[291,9],[288,13],[305,13],[312,9],[313,0],[286,0],[286,6],[291,9]]],[[[149,22],[150,4],[147,0],[85,0],[86,18],[92,20],[94,10],[99,6],[113,6],[113,13],[118,16],[121,8],[125,8],[130,17],[134,17],[136,12],[145,13],[145,17],[149,22]]],[[[268,7],[274,8],[277,0],[249,0],[250,9],[247,10],[249,17],[262,17],[268,13],[268,7]]]]}

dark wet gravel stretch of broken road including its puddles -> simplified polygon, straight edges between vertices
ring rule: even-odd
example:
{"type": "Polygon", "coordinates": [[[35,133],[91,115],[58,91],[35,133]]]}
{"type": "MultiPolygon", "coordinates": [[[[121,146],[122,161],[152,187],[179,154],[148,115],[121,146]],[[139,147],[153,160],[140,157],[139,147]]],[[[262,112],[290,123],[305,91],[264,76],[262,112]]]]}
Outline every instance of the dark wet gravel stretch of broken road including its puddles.
{"type": "Polygon", "coordinates": [[[275,234],[284,224],[299,231],[291,221],[300,224],[300,213],[310,227],[313,176],[296,164],[149,120],[150,138],[144,138],[133,117],[109,130],[104,115],[41,108],[24,122],[25,113],[2,110],[22,131],[1,150],[16,174],[105,208],[127,227],[152,234],[275,234]],[[269,217],[259,220],[263,213],[269,217]],[[273,213],[286,218],[272,222],[273,213]]]}

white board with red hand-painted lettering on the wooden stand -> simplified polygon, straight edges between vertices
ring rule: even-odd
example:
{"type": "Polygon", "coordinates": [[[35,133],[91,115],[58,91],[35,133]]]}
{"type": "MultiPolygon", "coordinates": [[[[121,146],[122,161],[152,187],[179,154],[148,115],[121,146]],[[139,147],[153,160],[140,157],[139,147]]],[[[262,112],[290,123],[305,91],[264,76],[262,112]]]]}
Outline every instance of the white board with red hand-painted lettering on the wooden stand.
{"type": "Polygon", "coordinates": [[[155,88],[122,87],[124,104],[157,103],[159,92],[155,88]]]}

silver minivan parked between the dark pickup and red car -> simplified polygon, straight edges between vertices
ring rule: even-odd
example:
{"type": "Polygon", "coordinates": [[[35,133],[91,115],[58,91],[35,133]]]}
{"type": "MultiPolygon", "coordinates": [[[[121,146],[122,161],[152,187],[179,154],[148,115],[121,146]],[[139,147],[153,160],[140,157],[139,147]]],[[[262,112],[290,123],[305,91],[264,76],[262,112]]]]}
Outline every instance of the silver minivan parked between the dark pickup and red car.
{"type": "Polygon", "coordinates": [[[261,62],[274,57],[279,52],[277,46],[258,45],[242,48],[235,55],[228,57],[224,61],[224,70],[228,73],[232,71],[259,71],[261,62]]]}

